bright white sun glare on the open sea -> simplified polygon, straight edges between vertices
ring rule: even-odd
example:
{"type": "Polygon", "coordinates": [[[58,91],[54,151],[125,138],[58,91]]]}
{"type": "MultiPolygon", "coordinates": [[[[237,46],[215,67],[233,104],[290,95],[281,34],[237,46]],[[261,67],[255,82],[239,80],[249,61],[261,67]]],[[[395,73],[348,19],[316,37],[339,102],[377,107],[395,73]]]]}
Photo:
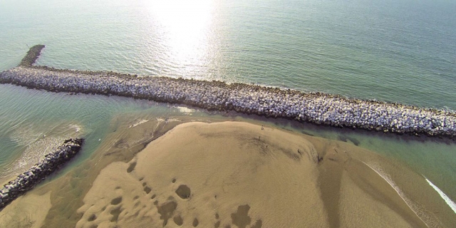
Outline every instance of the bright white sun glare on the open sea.
{"type": "Polygon", "coordinates": [[[154,0],[147,4],[152,29],[160,33],[165,61],[180,76],[195,76],[209,61],[212,0],[154,0]],[[189,75],[190,74],[190,75],[189,75]]]}

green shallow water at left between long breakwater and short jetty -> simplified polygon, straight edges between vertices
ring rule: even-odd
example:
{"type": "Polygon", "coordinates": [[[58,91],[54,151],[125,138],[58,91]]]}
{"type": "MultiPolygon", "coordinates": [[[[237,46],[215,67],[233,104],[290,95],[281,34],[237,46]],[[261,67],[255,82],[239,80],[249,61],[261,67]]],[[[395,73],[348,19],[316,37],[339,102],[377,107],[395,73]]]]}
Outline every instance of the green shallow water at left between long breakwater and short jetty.
{"type": "Polygon", "coordinates": [[[127,114],[166,118],[182,113],[174,106],[145,100],[48,93],[11,85],[0,85],[0,107],[1,176],[23,172],[62,140],[76,136],[86,138],[82,155],[73,163],[77,165],[100,145],[113,121],[141,120],[128,120],[127,114]],[[18,164],[21,156],[25,164],[18,164]]]}

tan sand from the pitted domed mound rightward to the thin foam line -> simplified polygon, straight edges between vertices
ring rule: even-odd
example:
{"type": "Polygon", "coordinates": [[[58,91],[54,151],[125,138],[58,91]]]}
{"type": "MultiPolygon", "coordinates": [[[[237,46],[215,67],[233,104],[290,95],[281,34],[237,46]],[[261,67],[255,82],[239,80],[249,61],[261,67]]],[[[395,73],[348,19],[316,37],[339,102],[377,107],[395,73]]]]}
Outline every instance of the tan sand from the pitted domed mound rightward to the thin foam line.
{"type": "Polygon", "coordinates": [[[76,227],[425,226],[358,160],[375,155],[330,142],[249,123],[178,125],[105,167],[76,227]]]}

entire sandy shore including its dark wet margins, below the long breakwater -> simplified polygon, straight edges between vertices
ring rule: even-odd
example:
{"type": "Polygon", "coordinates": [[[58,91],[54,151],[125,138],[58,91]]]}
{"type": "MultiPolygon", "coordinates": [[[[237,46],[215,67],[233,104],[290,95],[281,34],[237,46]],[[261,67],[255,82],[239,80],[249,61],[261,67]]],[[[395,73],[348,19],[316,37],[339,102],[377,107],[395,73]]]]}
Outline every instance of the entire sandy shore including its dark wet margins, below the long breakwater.
{"type": "Polygon", "coordinates": [[[127,123],[114,118],[112,133],[89,160],[16,199],[0,212],[0,227],[20,222],[449,227],[455,222],[422,176],[348,142],[244,122],[135,118],[125,118],[127,123]],[[43,206],[36,213],[27,209],[33,205],[43,206]]]}

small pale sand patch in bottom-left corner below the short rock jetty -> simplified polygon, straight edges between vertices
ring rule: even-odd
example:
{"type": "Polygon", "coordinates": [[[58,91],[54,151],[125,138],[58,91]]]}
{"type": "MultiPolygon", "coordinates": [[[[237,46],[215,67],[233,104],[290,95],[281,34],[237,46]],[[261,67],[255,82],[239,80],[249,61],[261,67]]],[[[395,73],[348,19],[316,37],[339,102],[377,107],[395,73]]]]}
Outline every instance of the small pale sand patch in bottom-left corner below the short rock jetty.
{"type": "Polygon", "coordinates": [[[14,200],[0,212],[0,227],[39,228],[51,209],[51,192],[28,193],[14,200]]]}

